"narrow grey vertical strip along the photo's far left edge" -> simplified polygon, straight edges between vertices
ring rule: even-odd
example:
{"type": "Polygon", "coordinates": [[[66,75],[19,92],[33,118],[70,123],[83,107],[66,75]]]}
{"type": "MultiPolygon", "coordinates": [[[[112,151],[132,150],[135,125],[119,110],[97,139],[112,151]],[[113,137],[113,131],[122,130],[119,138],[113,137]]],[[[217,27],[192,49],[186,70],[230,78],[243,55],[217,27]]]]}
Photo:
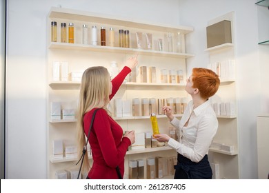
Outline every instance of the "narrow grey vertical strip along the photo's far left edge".
{"type": "Polygon", "coordinates": [[[5,177],[5,58],[6,1],[0,2],[0,179],[5,177]]]}

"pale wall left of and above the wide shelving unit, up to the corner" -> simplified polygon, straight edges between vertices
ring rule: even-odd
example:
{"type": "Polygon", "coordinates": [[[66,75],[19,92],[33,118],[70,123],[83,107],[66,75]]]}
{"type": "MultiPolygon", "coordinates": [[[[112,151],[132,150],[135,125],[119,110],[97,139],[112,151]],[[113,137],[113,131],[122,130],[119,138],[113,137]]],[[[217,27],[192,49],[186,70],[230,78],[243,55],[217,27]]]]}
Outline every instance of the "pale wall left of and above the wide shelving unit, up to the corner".
{"type": "Polygon", "coordinates": [[[179,24],[179,1],[8,1],[7,179],[46,179],[46,17],[52,6],[179,24]]]}

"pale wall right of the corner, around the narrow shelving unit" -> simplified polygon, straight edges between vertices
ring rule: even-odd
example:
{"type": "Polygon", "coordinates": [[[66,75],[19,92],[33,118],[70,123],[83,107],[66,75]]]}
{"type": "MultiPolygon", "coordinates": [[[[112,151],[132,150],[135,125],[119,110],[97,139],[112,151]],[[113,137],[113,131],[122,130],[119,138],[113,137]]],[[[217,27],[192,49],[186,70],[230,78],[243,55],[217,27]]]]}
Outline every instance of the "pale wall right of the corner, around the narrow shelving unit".
{"type": "MultiPolygon", "coordinates": [[[[237,96],[239,116],[239,156],[241,179],[257,179],[256,118],[261,112],[269,112],[268,45],[258,45],[258,6],[255,0],[238,1],[180,1],[181,24],[195,26],[190,37],[195,58],[188,61],[188,70],[195,66],[206,67],[206,25],[211,19],[228,12],[235,12],[235,52],[237,63],[237,96]],[[194,6],[195,5],[195,6],[194,6]],[[192,10],[190,12],[190,10],[192,10]],[[192,17],[197,14],[197,17],[192,17]],[[260,79],[261,77],[261,79],[260,79]],[[263,91],[264,90],[264,91],[263,91]]],[[[268,10],[267,10],[268,11],[268,10]]],[[[260,19],[268,22],[267,17],[260,19]]],[[[267,24],[268,25],[268,24],[267,24]]]]}

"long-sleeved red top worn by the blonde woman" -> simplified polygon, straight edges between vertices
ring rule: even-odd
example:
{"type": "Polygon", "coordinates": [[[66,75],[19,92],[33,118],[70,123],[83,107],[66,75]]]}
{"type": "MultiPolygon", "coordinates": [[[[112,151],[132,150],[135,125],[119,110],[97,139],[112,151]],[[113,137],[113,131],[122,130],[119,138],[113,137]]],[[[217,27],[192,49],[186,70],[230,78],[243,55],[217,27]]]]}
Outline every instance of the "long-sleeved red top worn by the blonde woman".
{"type": "MultiPolygon", "coordinates": [[[[112,94],[116,94],[124,78],[131,72],[130,68],[123,70],[112,80],[112,94]]],[[[95,108],[84,114],[84,133],[88,135],[90,121],[95,108]]],[[[124,174],[124,156],[131,145],[130,139],[123,136],[121,126],[112,119],[106,110],[100,109],[94,118],[90,132],[90,147],[92,148],[93,164],[88,177],[90,179],[119,179],[116,167],[119,165],[121,176],[124,174]]]]}

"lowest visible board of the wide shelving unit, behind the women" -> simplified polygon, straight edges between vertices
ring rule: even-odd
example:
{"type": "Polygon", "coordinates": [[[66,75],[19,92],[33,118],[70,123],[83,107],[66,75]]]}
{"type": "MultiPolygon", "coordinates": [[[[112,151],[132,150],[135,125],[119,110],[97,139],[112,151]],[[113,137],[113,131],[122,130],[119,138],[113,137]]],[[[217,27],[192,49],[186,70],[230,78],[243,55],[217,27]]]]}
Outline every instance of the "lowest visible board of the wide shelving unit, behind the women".
{"type": "MultiPolygon", "coordinates": [[[[166,151],[166,150],[172,150],[169,146],[162,146],[157,148],[145,148],[143,150],[128,150],[126,152],[126,155],[132,155],[132,154],[146,154],[149,152],[160,152],[160,151],[166,151]]],[[[92,159],[92,156],[88,156],[89,159],[92,159]]],[[[69,161],[77,161],[77,157],[71,157],[66,158],[63,157],[62,159],[54,159],[53,156],[50,156],[50,162],[51,163],[61,163],[61,162],[69,162],[69,161]]]]}

